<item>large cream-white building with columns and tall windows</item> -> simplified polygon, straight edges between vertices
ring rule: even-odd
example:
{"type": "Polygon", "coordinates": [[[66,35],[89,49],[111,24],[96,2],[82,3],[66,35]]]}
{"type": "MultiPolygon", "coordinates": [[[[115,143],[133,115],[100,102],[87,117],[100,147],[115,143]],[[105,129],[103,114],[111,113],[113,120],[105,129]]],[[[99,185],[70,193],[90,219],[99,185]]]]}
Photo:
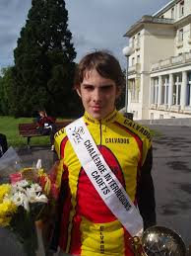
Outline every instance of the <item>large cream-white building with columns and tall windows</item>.
{"type": "Polygon", "coordinates": [[[173,0],[126,32],[134,119],[191,118],[191,0],[173,0]]]}

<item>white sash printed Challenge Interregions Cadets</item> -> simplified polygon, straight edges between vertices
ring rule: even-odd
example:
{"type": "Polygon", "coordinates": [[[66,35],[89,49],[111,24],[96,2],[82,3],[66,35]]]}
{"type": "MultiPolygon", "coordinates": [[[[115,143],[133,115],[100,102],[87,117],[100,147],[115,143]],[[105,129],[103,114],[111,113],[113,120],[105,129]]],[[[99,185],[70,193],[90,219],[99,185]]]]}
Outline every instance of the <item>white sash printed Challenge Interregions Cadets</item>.
{"type": "Polygon", "coordinates": [[[142,216],[106,164],[83,118],[68,125],[65,130],[86,174],[106,206],[132,236],[142,235],[142,216]]]}

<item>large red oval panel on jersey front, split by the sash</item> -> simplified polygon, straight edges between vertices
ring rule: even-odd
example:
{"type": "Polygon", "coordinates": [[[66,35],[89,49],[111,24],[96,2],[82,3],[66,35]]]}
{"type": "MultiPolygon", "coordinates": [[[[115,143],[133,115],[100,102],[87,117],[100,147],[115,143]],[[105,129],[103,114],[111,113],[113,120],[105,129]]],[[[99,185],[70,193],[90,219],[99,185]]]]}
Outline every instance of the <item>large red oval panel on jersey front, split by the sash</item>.
{"type": "MultiPolygon", "coordinates": [[[[114,154],[105,146],[100,146],[98,149],[102,156],[107,159],[108,166],[113,171],[122,186],[125,188],[123,173],[114,154]]],[[[97,176],[95,178],[98,182],[99,177],[97,176]]],[[[105,189],[105,185],[101,183],[102,182],[100,180],[99,187],[103,191],[105,189]]],[[[79,176],[76,200],[79,204],[77,214],[79,213],[80,215],[85,216],[89,221],[94,223],[105,223],[116,220],[115,215],[111,213],[111,211],[96,192],[94,185],[92,184],[83,168],[81,169],[79,176]]]]}

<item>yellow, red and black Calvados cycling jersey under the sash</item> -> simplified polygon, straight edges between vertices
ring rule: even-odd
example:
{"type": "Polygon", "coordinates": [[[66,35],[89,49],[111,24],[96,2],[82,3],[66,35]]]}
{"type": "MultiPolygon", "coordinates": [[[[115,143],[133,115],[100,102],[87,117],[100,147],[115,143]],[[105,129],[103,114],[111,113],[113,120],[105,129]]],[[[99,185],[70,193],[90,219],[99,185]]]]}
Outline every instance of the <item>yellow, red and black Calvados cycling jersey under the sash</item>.
{"type": "MultiPolygon", "coordinates": [[[[151,134],[148,128],[114,111],[97,121],[87,112],[84,121],[107,165],[139,205],[145,226],[156,221],[152,167],[151,134]]],[[[89,180],[73,147],[60,129],[55,149],[63,168],[57,173],[61,215],[59,246],[72,255],[131,256],[129,233],[108,210],[89,180]]]]}

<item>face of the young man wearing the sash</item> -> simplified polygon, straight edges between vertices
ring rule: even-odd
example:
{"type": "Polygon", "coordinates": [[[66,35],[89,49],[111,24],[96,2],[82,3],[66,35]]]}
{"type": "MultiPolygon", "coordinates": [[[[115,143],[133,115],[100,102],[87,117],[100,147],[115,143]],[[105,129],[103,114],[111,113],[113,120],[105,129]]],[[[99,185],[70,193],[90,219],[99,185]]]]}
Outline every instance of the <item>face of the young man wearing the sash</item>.
{"type": "Polygon", "coordinates": [[[96,69],[87,71],[77,89],[85,110],[96,120],[104,119],[115,109],[120,90],[111,79],[100,76],[96,69]]]}

